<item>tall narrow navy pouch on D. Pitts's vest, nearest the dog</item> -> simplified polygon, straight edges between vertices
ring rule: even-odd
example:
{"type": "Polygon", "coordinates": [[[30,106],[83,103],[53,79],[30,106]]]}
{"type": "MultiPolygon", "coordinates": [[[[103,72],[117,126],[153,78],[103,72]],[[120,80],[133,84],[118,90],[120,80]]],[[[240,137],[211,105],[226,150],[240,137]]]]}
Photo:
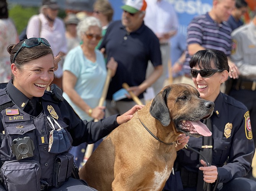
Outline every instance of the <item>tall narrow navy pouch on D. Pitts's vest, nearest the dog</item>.
{"type": "Polygon", "coordinates": [[[58,188],[68,180],[71,176],[73,162],[72,154],[65,153],[57,156],[54,162],[53,186],[58,188]]]}

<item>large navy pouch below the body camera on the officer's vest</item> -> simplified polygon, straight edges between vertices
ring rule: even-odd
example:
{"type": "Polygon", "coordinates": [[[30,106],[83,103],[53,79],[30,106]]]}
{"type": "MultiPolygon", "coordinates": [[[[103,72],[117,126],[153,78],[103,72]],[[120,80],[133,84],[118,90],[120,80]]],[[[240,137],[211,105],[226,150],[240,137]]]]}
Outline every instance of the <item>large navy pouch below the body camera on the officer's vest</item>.
{"type": "Polygon", "coordinates": [[[41,167],[32,160],[6,161],[1,181],[7,191],[40,191],[41,167]]]}

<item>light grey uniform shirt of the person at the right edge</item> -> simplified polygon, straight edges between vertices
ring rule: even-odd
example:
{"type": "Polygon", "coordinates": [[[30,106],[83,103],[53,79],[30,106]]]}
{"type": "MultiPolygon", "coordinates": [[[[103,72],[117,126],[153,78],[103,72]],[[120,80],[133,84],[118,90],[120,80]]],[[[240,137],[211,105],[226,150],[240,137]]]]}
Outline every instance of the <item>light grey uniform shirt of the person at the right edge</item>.
{"type": "Polygon", "coordinates": [[[256,80],[256,25],[250,22],[234,30],[231,36],[233,44],[230,57],[241,77],[256,80]]]}

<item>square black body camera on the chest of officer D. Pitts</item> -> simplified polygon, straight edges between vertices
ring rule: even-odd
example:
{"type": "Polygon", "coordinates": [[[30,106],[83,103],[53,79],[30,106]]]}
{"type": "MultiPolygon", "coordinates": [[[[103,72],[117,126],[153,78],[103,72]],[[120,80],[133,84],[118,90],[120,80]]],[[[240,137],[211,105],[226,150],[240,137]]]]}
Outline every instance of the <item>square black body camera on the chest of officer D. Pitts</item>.
{"type": "Polygon", "coordinates": [[[11,145],[13,154],[16,156],[17,160],[26,159],[34,156],[34,143],[30,137],[15,138],[13,144],[11,145]]]}

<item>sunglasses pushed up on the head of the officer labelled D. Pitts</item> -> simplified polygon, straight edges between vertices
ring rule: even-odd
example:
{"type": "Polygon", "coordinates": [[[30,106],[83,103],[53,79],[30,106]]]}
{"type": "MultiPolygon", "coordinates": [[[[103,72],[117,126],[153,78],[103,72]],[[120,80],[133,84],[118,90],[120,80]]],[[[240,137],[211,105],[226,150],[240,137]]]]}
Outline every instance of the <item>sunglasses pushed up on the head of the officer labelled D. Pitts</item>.
{"type": "Polygon", "coordinates": [[[18,53],[21,51],[21,49],[23,47],[26,47],[26,48],[32,48],[34,46],[38,46],[40,45],[41,43],[43,43],[45,46],[51,46],[50,43],[45,39],[45,38],[29,38],[27,40],[25,40],[22,45],[19,47],[18,51],[14,54],[14,57],[13,57],[13,62],[15,61],[15,58],[16,56],[18,55],[18,53]]]}

